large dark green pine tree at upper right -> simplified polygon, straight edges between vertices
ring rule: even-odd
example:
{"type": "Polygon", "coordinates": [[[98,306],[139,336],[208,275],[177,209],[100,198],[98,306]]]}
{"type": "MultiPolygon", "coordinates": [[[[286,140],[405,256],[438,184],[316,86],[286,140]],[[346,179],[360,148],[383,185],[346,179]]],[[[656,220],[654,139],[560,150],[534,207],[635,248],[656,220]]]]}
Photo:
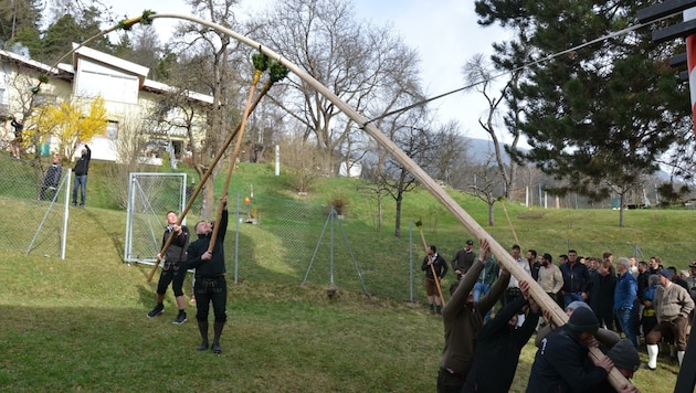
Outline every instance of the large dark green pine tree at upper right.
{"type": "MultiPolygon", "coordinates": [[[[623,199],[690,132],[688,91],[666,65],[675,53],[652,43],[648,29],[583,46],[637,23],[635,12],[643,7],[634,1],[476,2],[479,23],[515,28],[517,42],[532,45],[526,63],[550,57],[529,66],[514,92],[524,103],[519,127],[531,146],[517,159],[560,181],[548,191],[623,199]]],[[[506,56],[498,53],[507,64],[519,64],[506,56]]]]}

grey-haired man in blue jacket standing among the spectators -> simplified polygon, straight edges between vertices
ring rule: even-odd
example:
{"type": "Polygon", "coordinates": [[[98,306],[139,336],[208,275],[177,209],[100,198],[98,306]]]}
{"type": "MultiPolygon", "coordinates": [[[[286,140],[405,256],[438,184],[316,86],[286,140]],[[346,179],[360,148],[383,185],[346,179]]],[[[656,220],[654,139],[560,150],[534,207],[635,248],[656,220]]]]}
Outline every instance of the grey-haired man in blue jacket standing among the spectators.
{"type": "Polygon", "coordinates": [[[630,273],[631,261],[621,257],[616,263],[616,290],[614,291],[614,314],[621,326],[621,330],[626,334],[635,348],[637,338],[635,334],[635,304],[637,300],[637,282],[630,273]]]}

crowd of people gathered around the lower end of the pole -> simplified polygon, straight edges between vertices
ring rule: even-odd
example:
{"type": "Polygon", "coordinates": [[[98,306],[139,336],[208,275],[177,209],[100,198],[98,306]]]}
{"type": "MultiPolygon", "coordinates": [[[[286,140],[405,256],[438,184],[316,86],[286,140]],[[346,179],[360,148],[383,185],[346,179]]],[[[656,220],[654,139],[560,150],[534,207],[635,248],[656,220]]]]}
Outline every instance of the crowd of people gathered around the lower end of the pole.
{"type": "MultiPolygon", "coordinates": [[[[661,351],[669,348],[679,367],[694,317],[696,261],[690,272],[665,268],[658,256],[647,262],[619,257],[582,257],[574,249],[557,257],[514,245],[510,256],[568,315],[557,327],[541,299],[529,294],[529,283],[499,266],[481,240],[478,255],[466,241],[450,266],[431,245],[423,259],[429,302],[442,315],[444,348],[437,373],[437,392],[507,392],[519,353],[536,332],[538,350],[527,392],[614,392],[608,374],[616,368],[631,379],[647,354],[646,370],[656,370],[661,351]],[[436,258],[434,257],[436,256],[436,258]],[[436,296],[449,268],[456,274],[450,300],[436,296]],[[432,296],[431,296],[432,294],[432,296]],[[491,317],[498,304],[502,309],[491,317]],[[589,357],[597,347],[604,357],[589,357]],[[496,364],[494,369],[491,364],[496,364]]],[[[442,295],[440,295],[442,297],[442,295]]],[[[621,392],[636,392],[632,384],[621,392]]]]}

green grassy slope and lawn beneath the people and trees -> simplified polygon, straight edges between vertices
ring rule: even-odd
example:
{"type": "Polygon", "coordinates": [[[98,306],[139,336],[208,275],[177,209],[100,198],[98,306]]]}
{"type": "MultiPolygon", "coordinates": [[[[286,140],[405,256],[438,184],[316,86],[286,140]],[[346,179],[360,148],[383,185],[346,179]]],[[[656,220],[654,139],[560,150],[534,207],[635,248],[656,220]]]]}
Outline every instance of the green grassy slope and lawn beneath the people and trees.
{"type": "MultiPolygon", "coordinates": [[[[25,164],[9,159],[0,163],[6,169],[0,184],[12,173],[10,183],[14,190],[20,188],[25,164]]],[[[213,355],[194,350],[199,341],[194,307],[188,307],[189,321],[183,326],[171,323],[176,317],[171,291],[164,316],[145,317],[154,306],[157,279],[145,280],[149,266],[123,263],[125,213],[105,173],[106,164],[93,163],[87,208],[71,209],[65,261],[42,253],[27,255],[27,233],[33,234],[36,211],[45,212],[45,203],[18,198],[0,187],[6,223],[0,242],[4,295],[0,386],[4,391],[434,390],[442,321],[422,307],[422,243],[418,232],[409,233],[409,222],[421,219],[429,243],[445,257],[470,235],[425,191],[407,195],[402,236],[396,238],[393,201],[386,201],[383,227],[378,230],[376,199],[360,180],[319,179],[308,195],[297,197],[287,176],[275,177],[265,164],[241,164],[230,194],[239,192],[243,198],[253,184],[261,224],[239,227],[240,279],[230,285],[223,353],[213,355]],[[321,205],[335,195],[349,205],[340,226],[334,226],[330,264],[330,247],[319,234],[327,224],[321,205]],[[309,224],[281,223],[274,212],[289,208],[312,212],[309,224]],[[291,240],[303,237],[284,235],[283,226],[294,233],[307,231],[303,244],[291,245],[291,240]],[[307,274],[314,252],[320,257],[307,274]],[[303,255],[308,257],[295,259],[303,255]],[[306,275],[307,283],[300,285],[306,275]],[[333,299],[325,291],[330,277],[339,288],[333,299]],[[362,294],[360,279],[371,297],[362,294]],[[411,282],[415,305],[404,301],[411,297],[411,282]]],[[[626,226],[619,227],[615,211],[539,210],[507,202],[510,223],[497,208],[496,225],[489,227],[483,202],[449,192],[506,247],[516,235],[523,248],[553,255],[568,247],[582,255],[612,251],[618,256],[640,249],[645,258],[661,255],[665,264],[681,268],[696,255],[693,211],[629,211],[626,226]]],[[[234,234],[231,225],[225,245],[231,274],[234,234]]],[[[187,295],[189,288],[187,282],[187,295]]],[[[513,391],[524,391],[532,360],[534,348],[528,346],[513,391]]],[[[673,390],[677,369],[672,360],[661,362],[656,372],[636,373],[634,382],[642,391],[673,390]]]]}

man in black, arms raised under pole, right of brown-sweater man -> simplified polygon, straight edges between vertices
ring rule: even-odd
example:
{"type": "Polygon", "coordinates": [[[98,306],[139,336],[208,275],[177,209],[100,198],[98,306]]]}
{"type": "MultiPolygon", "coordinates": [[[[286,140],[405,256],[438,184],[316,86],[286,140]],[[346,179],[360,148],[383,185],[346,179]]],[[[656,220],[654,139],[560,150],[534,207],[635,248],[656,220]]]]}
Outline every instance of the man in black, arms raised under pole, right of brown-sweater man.
{"type": "Polygon", "coordinates": [[[519,352],[535,331],[539,320],[539,306],[529,296],[529,284],[519,282],[523,296],[498,312],[476,336],[474,363],[462,392],[508,392],[519,362],[519,352]],[[517,315],[529,305],[521,327],[517,315]],[[492,368],[492,364],[496,364],[492,368]]]}

